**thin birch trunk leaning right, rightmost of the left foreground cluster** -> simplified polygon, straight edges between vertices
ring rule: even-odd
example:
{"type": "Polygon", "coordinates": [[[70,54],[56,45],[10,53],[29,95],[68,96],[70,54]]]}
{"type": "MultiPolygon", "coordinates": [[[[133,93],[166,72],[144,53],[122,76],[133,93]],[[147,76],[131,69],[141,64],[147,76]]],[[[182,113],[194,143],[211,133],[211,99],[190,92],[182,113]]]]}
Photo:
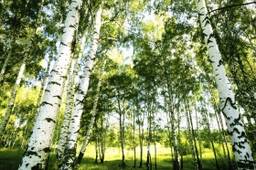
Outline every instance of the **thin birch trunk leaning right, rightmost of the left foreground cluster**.
{"type": "Polygon", "coordinates": [[[91,122],[90,122],[88,130],[86,132],[86,137],[84,139],[84,142],[83,142],[83,144],[80,148],[80,154],[79,154],[79,157],[78,157],[78,160],[77,160],[76,169],[79,169],[82,157],[85,153],[86,147],[87,147],[87,145],[89,143],[89,140],[91,138],[91,131],[92,131],[93,124],[97,123],[97,122],[95,122],[95,117],[96,117],[96,110],[97,110],[97,105],[98,105],[98,101],[99,101],[99,96],[100,96],[101,80],[102,80],[101,76],[102,76],[102,73],[105,69],[105,64],[106,64],[106,59],[104,60],[104,63],[102,65],[102,68],[101,68],[101,71],[100,71],[100,78],[99,78],[99,82],[98,82],[98,85],[97,85],[96,97],[94,99],[94,104],[93,104],[93,108],[92,108],[91,122]]]}

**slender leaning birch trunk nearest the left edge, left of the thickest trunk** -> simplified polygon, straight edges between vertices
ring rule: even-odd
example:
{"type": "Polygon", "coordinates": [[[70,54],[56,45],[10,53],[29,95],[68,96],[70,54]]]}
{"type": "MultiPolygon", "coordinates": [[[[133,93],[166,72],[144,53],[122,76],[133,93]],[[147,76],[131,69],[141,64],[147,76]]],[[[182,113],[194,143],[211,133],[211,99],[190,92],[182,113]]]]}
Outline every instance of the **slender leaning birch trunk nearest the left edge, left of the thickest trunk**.
{"type": "MultiPolygon", "coordinates": [[[[4,133],[6,125],[9,121],[10,116],[11,116],[12,110],[14,108],[14,104],[15,104],[15,100],[16,100],[16,92],[18,90],[18,87],[19,87],[20,81],[22,79],[23,73],[26,69],[27,58],[29,56],[30,48],[33,45],[33,39],[36,35],[37,27],[39,25],[39,20],[40,20],[41,12],[42,12],[42,9],[43,9],[43,4],[44,4],[44,0],[41,1],[40,9],[38,10],[38,15],[37,15],[36,27],[34,28],[32,34],[31,34],[31,37],[29,39],[29,42],[27,44],[27,48],[25,49],[24,58],[22,60],[21,67],[20,67],[20,69],[18,71],[18,74],[17,74],[16,83],[15,83],[15,86],[14,86],[14,88],[12,90],[12,94],[11,94],[11,99],[10,99],[8,107],[6,109],[5,117],[4,117],[4,119],[3,119],[3,121],[1,122],[1,125],[0,125],[0,136],[4,133]]],[[[9,53],[11,53],[11,52],[9,52],[9,53]]],[[[10,56],[11,56],[11,54],[8,54],[7,58],[10,58],[10,56]]],[[[5,69],[3,71],[5,72],[5,69]]]]}

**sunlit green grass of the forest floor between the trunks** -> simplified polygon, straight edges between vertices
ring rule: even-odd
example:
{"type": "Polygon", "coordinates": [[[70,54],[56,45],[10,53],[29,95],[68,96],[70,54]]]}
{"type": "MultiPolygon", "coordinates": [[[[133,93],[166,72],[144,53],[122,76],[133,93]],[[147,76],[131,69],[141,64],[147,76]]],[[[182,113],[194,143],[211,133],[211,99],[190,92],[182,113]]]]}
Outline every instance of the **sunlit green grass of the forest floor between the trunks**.
{"type": "MultiPolygon", "coordinates": [[[[80,165],[81,170],[121,170],[121,169],[133,169],[133,170],[144,170],[145,167],[145,156],[144,154],[144,164],[143,167],[133,167],[133,151],[126,151],[126,167],[120,167],[121,161],[121,151],[118,148],[107,148],[105,154],[105,162],[103,164],[98,161],[99,164],[95,165],[95,152],[93,150],[93,146],[90,146],[83,157],[82,163],[80,165]]],[[[144,152],[146,152],[146,148],[144,148],[144,152]]],[[[24,150],[17,150],[17,149],[0,149],[0,170],[16,170],[22,156],[24,154],[24,150]]],[[[139,166],[139,149],[137,150],[136,157],[136,166],[139,166]]],[[[48,170],[52,170],[53,164],[55,160],[55,154],[50,154],[49,163],[48,163],[48,170]]],[[[158,148],[156,154],[157,160],[157,170],[165,170],[165,169],[172,169],[172,161],[171,161],[171,154],[169,148],[158,148]]],[[[203,154],[203,170],[215,170],[215,159],[213,154],[210,150],[208,153],[203,154]]],[[[193,168],[193,161],[191,155],[186,155],[183,158],[184,170],[190,170],[193,168]]],[[[155,169],[155,154],[152,152],[152,169],[155,169]]],[[[226,169],[223,165],[223,159],[219,159],[220,169],[226,169]],[[221,166],[223,168],[221,168],[221,166]]]]}

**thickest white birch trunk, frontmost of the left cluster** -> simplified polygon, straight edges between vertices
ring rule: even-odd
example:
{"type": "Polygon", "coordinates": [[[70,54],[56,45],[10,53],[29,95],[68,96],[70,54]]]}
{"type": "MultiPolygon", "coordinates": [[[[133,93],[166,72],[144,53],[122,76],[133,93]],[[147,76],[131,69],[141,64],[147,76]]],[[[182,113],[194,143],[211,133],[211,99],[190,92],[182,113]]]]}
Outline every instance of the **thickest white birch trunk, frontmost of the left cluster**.
{"type": "Polygon", "coordinates": [[[69,71],[70,55],[74,48],[76,31],[79,25],[81,5],[81,0],[73,0],[69,5],[69,12],[60,41],[58,59],[51,70],[37,122],[34,125],[19,170],[45,169],[47,166],[49,147],[57,122],[63,87],[69,71]]]}

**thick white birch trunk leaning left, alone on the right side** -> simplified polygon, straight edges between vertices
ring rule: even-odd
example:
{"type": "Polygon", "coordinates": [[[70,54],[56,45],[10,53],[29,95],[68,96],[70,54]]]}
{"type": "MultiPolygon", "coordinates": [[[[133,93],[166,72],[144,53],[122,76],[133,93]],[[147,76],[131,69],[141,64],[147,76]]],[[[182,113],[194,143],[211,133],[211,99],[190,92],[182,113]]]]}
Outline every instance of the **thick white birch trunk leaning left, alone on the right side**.
{"type": "Polygon", "coordinates": [[[220,107],[227,123],[235,161],[239,169],[254,169],[255,162],[252,157],[251,147],[240,121],[240,112],[236,106],[235,96],[226,76],[216,39],[213,36],[205,1],[195,0],[195,2],[203,29],[204,40],[208,48],[209,59],[218,85],[220,107]]]}

